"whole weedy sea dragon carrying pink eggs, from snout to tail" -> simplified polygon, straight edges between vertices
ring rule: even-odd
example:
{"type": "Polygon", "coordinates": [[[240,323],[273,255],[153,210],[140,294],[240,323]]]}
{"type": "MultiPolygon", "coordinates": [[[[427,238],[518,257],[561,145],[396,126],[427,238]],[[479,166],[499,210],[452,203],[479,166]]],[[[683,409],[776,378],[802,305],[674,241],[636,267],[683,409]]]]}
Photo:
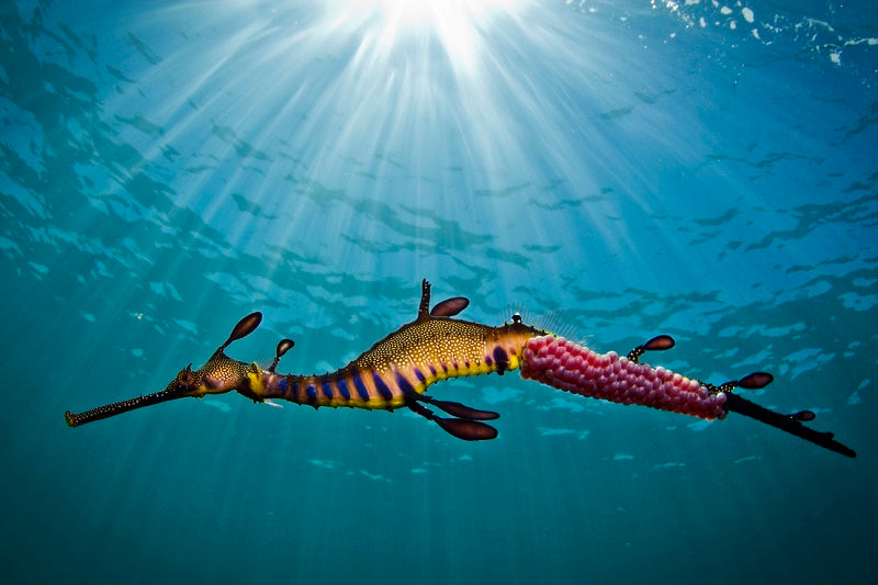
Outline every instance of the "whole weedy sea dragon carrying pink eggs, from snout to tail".
{"type": "Polygon", "coordinates": [[[204,365],[192,370],[190,363],[165,390],[81,414],[68,410],[65,417],[68,425],[76,427],[143,406],[234,390],[254,402],[278,398],[315,408],[347,406],[391,412],[408,408],[454,437],[486,440],[495,438],[497,430],[484,421],[498,418],[497,413],[439,401],[425,392],[434,382],[448,378],[492,372],[503,375],[520,368],[526,379],[610,402],[640,404],[709,420],[722,419],[730,412],[740,413],[836,453],[856,457],[856,452],[836,441],[832,432],[820,432],[802,424],[813,420],[812,412],[777,413],[734,392],[739,387],[764,387],[772,382],[772,374],[754,372],[720,385],[708,384],[662,367],[640,363],[645,351],[674,346],[674,339],[667,335],[654,337],[620,358],[614,351],[600,355],[525,325],[517,313],[511,323],[499,327],[453,318],[469,303],[465,297],[455,296],[429,310],[430,283],[424,280],[415,320],[378,341],[340,370],[312,375],[275,371],[281,357],[294,346],[291,339],[278,344],[268,368],[226,356],[225,349],[233,341],[248,336],[259,326],[262,314],[252,313],[235,325],[228,339],[204,365]],[[432,408],[450,416],[438,416],[432,408]]]}

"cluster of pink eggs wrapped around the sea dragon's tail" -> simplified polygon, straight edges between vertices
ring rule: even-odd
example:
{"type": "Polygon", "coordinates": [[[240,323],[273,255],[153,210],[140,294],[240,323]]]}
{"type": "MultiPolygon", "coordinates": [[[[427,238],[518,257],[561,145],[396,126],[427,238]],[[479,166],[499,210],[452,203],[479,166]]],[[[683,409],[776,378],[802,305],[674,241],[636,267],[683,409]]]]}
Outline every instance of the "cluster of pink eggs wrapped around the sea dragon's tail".
{"type": "Polygon", "coordinates": [[[521,376],[552,387],[620,404],[640,404],[712,420],[725,417],[725,394],[711,393],[697,380],[597,353],[563,337],[528,340],[521,376]]]}

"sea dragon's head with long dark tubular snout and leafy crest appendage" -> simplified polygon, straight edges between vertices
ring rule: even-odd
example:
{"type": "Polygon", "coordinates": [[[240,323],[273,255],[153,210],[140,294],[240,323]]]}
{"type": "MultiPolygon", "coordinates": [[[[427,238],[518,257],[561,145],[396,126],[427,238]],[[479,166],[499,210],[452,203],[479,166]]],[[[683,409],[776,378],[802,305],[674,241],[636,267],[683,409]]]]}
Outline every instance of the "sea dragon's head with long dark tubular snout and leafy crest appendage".
{"type": "MultiPolygon", "coordinates": [[[[207,394],[223,394],[237,390],[241,394],[256,400],[255,393],[250,390],[251,383],[258,383],[259,369],[254,364],[244,363],[233,360],[225,355],[225,348],[233,341],[250,335],[259,326],[262,320],[262,314],[251,313],[240,319],[235,328],[232,329],[228,339],[214,351],[211,359],[199,368],[192,370],[190,363],[177,373],[177,376],[165,386],[165,390],[154,392],[151,394],[144,394],[126,401],[99,406],[80,414],[74,414],[70,410],[65,413],[67,424],[71,427],[78,427],[86,423],[109,418],[135,408],[143,408],[161,402],[173,401],[177,398],[187,397],[203,397],[207,394]]],[[[285,339],[283,342],[289,344],[289,347],[282,349],[279,346],[278,351],[280,355],[292,347],[292,341],[285,339]],[[282,350],[281,350],[282,349],[282,350]]],[[[278,356],[279,358],[280,356],[278,356]]]]}

